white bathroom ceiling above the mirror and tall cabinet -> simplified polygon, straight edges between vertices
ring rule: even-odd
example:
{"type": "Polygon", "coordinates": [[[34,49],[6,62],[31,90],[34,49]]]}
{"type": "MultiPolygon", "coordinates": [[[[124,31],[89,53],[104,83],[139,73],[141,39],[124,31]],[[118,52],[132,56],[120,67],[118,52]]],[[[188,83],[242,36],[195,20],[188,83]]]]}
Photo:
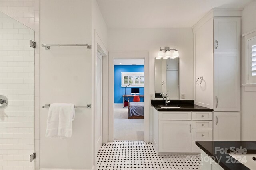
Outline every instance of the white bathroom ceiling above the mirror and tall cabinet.
{"type": "Polygon", "coordinates": [[[190,28],[212,8],[252,0],[97,0],[108,28],[190,28]]]}

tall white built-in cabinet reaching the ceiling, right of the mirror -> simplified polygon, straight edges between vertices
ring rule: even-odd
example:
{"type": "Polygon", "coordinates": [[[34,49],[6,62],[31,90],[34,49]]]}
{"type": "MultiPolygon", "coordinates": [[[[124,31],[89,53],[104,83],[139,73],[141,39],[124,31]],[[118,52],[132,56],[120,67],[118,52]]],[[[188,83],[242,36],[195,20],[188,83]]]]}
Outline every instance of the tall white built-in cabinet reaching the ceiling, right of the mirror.
{"type": "Polygon", "coordinates": [[[193,27],[195,104],[214,109],[213,140],[240,140],[241,16],[214,8],[193,27]]]}

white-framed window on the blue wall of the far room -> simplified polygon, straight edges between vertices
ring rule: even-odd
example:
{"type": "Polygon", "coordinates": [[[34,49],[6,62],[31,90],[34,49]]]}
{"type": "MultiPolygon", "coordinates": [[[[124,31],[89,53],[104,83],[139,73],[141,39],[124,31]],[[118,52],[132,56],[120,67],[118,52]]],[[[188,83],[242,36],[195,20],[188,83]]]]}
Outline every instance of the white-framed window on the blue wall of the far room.
{"type": "Polygon", "coordinates": [[[144,87],[144,72],[121,72],[121,86],[144,87]]]}

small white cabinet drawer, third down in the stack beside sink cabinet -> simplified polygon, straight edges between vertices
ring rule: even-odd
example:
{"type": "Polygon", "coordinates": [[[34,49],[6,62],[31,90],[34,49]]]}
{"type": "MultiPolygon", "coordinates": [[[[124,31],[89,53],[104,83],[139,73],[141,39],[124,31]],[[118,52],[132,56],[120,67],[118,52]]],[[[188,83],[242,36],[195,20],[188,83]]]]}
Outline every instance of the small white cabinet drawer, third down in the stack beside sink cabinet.
{"type": "Polygon", "coordinates": [[[193,129],[192,141],[212,141],[212,129],[193,129]]]}

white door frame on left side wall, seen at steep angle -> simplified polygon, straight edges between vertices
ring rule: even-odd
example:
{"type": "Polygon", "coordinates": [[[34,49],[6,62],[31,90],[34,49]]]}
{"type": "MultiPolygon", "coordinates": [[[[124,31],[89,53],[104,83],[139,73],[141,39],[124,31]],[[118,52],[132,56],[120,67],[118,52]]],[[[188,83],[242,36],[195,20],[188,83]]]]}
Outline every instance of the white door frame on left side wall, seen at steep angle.
{"type": "Polygon", "coordinates": [[[92,159],[92,164],[94,164],[95,169],[97,169],[97,151],[96,151],[96,136],[95,136],[95,114],[96,114],[96,109],[97,107],[97,102],[96,102],[96,72],[97,72],[97,53],[99,52],[102,55],[102,142],[107,143],[108,142],[108,131],[107,127],[108,125],[104,123],[104,120],[108,119],[108,103],[104,102],[104,100],[108,99],[108,50],[102,40],[100,39],[98,33],[96,30],[94,30],[94,44],[92,46],[92,50],[94,50],[94,56],[92,59],[92,76],[93,76],[93,81],[92,81],[92,143],[93,143],[93,148],[92,148],[92,156],[94,159],[92,159]]]}

